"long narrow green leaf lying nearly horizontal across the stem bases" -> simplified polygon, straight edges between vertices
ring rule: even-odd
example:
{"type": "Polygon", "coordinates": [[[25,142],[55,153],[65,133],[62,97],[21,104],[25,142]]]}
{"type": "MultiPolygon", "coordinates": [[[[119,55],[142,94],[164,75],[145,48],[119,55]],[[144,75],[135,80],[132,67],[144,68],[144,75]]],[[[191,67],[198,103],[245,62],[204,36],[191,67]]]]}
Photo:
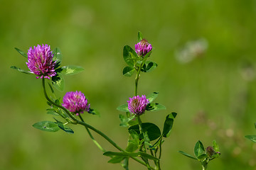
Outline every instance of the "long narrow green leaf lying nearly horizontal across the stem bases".
{"type": "Polygon", "coordinates": [[[103,155],[105,156],[123,156],[123,157],[144,157],[146,159],[152,159],[154,161],[159,161],[156,157],[153,157],[150,154],[146,154],[144,152],[137,153],[129,153],[129,152],[105,152],[103,155]]]}

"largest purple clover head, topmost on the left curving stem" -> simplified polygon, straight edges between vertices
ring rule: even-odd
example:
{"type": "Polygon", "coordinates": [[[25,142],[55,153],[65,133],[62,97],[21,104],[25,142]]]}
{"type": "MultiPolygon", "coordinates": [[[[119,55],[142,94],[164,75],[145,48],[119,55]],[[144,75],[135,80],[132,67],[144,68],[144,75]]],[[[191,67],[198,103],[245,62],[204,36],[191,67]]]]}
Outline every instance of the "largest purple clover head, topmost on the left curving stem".
{"type": "Polygon", "coordinates": [[[50,45],[38,45],[28,49],[28,69],[41,79],[50,79],[56,75],[55,63],[53,62],[53,52],[50,51],[50,45]]]}

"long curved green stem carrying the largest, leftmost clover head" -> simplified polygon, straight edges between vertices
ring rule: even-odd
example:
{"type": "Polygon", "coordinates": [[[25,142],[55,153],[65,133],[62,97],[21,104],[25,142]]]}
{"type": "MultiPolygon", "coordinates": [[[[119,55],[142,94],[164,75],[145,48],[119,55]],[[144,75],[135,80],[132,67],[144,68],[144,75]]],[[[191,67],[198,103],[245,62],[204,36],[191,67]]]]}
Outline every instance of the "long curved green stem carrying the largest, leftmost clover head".
{"type": "MultiPolygon", "coordinates": [[[[100,130],[97,130],[95,128],[93,128],[91,125],[88,125],[85,122],[82,122],[78,119],[76,119],[66,108],[64,108],[63,106],[60,106],[56,103],[54,103],[53,101],[50,100],[50,98],[48,97],[47,93],[46,93],[46,85],[45,85],[45,79],[42,79],[42,84],[43,84],[43,94],[46,97],[47,101],[49,101],[50,103],[52,103],[54,106],[57,106],[58,108],[63,109],[63,111],[65,111],[65,113],[68,114],[68,116],[73,120],[73,124],[80,124],[85,126],[85,128],[89,128],[90,130],[93,130],[95,132],[97,132],[97,134],[101,135],[103,138],[105,138],[105,140],[107,140],[108,142],[110,142],[111,145],[113,145],[115,148],[119,149],[119,151],[121,152],[126,152],[124,149],[122,149],[121,147],[119,147],[116,143],[114,143],[114,141],[112,141],[110,139],[110,137],[107,137],[107,135],[105,135],[104,133],[102,133],[100,130]]],[[[142,162],[141,160],[137,159],[136,157],[131,157],[132,159],[134,159],[134,161],[139,162],[140,164],[143,164],[144,166],[148,166],[147,164],[145,164],[144,162],[142,162]]],[[[152,167],[150,167],[151,169],[154,169],[152,167]]]]}

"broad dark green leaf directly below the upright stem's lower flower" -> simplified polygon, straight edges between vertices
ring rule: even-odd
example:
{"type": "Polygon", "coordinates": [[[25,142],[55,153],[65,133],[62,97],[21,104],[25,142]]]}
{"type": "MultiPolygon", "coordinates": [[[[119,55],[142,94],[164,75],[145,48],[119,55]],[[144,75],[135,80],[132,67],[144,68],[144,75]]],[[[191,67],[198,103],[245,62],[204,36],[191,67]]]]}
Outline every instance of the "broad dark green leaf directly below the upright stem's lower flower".
{"type": "MultiPolygon", "coordinates": [[[[133,125],[128,130],[135,130],[138,134],[140,133],[139,125],[133,125]]],[[[161,136],[161,130],[153,123],[142,123],[142,132],[147,133],[150,141],[156,140],[161,136]]]]}

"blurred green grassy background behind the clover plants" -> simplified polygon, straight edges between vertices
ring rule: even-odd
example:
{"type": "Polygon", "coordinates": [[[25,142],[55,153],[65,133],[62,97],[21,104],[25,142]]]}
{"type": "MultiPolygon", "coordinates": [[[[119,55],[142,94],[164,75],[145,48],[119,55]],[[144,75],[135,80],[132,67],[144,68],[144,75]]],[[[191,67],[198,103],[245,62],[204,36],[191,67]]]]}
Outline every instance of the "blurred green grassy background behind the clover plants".
{"type": "MultiPolygon", "coordinates": [[[[46,114],[41,81],[21,74],[26,59],[14,50],[38,44],[60,47],[63,65],[85,72],[65,77],[65,89],[82,91],[101,117],[85,114],[87,123],[109,135],[123,148],[127,128],[119,127],[117,106],[134,94],[134,77],[122,76],[124,45],[134,47],[137,32],[154,47],[150,60],[158,68],[142,74],[139,95],[159,91],[166,111],[146,113],[142,121],[162,127],[165,116],[178,113],[164,142],[162,169],[201,169],[193,154],[201,140],[216,140],[221,156],[208,169],[255,170],[256,145],[256,1],[0,1],[0,169],[122,169],[108,164],[80,126],[75,134],[43,132],[32,127],[46,114]],[[191,62],[179,62],[177,50],[204,38],[208,48],[191,62]]],[[[94,134],[94,133],[93,133],[94,134]]],[[[105,149],[117,151],[94,134],[105,149]]],[[[130,169],[145,169],[130,162],[130,169]]]]}

